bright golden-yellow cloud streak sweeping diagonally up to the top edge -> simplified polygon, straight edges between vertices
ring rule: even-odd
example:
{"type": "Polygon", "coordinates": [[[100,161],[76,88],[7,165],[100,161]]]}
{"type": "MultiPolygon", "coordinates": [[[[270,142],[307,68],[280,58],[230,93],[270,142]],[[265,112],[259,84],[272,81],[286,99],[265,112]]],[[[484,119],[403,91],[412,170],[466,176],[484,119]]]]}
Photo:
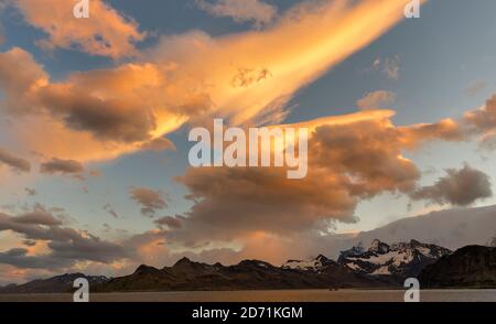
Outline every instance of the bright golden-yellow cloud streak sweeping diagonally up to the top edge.
{"type": "Polygon", "coordinates": [[[220,39],[201,32],[164,37],[150,55],[194,75],[194,84],[207,89],[216,116],[230,116],[235,125],[254,121],[268,109],[279,117],[296,90],[398,23],[407,2],[303,3],[267,31],[220,39]]]}

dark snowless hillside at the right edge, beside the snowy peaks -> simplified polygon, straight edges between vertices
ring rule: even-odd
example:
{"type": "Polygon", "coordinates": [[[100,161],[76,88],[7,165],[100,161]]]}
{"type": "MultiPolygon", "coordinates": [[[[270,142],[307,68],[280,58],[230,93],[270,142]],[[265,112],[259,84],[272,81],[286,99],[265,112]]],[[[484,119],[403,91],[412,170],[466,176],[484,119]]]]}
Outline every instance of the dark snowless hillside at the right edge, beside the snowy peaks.
{"type": "Polygon", "coordinates": [[[468,246],[422,270],[424,288],[495,288],[496,248],[468,246]]]}

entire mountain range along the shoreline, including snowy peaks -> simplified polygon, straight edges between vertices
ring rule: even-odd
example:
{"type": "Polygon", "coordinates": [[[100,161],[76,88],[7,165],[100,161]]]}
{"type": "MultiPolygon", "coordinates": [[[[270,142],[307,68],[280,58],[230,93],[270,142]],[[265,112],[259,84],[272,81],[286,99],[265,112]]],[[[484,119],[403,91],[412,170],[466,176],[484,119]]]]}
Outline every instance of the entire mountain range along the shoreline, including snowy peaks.
{"type": "Polygon", "coordinates": [[[187,258],[162,269],[140,266],[125,277],[63,274],[0,288],[0,293],[69,292],[77,278],[87,278],[93,292],[228,291],[289,289],[395,289],[406,278],[423,288],[496,287],[496,248],[468,246],[455,252],[417,240],[388,245],[378,239],[368,248],[342,251],[337,261],[319,256],[274,267],[259,260],[234,266],[206,264],[187,258]]]}

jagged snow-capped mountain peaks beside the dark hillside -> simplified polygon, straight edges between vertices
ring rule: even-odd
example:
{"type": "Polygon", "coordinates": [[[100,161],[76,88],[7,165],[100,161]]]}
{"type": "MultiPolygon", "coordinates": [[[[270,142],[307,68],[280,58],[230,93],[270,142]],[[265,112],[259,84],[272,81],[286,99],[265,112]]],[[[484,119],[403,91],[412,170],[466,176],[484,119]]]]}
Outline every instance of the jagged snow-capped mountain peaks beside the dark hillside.
{"type": "Polygon", "coordinates": [[[359,273],[391,276],[399,280],[418,277],[420,271],[452,251],[417,240],[387,245],[375,239],[366,250],[362,245],[343,251],[338,263],[359,273]]]}

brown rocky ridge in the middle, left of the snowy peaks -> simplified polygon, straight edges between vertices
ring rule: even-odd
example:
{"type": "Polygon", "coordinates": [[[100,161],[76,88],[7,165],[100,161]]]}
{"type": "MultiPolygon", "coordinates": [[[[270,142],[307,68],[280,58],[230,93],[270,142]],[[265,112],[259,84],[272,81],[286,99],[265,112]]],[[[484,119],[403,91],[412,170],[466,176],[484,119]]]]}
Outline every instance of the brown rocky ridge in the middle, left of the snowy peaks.
{"type": "MultiPolygon", "coordinates": [[[[315,268],[281,268],[258,260],[236,266],[205,264],[186,258],[173,267],[157,269],[140,266],[134,273],[112,279],[96,287],[97,292],[115,291],[198,291],[198,290],[267,290],[267,289],[330,289],[385,288],[391,283],[368,278],[319,257],[315,268]]],[[[289,261],[291,263],[293,261],[289,261]]],[[[288,264],[288,263],[287,263],[288,264]]]]}

